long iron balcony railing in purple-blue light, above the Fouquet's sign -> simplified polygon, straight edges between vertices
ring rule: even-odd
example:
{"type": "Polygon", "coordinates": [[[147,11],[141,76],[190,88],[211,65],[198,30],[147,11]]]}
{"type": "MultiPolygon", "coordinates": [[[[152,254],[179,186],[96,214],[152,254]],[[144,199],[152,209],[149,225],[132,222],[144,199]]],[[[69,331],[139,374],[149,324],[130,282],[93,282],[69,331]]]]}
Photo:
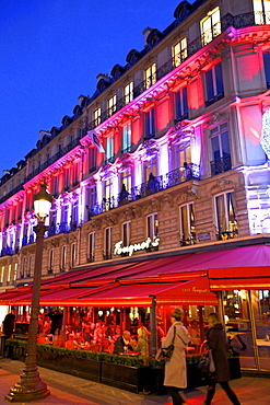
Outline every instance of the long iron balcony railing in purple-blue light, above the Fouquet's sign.
{"type": "Polygon", "coordinates": [[[140,186],[119,193],[116,197],[103,198],[101,204],[94,204],[91,207],[91,217],[107,212],[110,209],[148,197],[190,180],[199,178],[200,167],[195,163],[186,164],[185,167],[176,169],[165,175],[153,176],[153,178],[142,183],[140,186]]]}

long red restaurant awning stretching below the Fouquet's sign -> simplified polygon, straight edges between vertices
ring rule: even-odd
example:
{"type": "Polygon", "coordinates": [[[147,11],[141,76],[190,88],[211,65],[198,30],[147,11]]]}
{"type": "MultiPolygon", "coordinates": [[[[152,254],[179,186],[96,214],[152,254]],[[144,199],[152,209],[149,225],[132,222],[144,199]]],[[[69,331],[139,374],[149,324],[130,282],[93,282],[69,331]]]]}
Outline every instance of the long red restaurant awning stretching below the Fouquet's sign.
{"type": "MultiPolygon", "coordinates": [[[[150,305],[150,296],[155,296],[157,302],[207,304],[216,302],[210,290],[246,288],[270,288],[270,246],[191,253],[64,273],[43,281],[40,305],[150,305]],[[185,286],[186,282],[190,284],[185,286]]],[[[22,286],[2,292],[0,304],[30,304],[31,297],[31,285],[22,286]]]]}

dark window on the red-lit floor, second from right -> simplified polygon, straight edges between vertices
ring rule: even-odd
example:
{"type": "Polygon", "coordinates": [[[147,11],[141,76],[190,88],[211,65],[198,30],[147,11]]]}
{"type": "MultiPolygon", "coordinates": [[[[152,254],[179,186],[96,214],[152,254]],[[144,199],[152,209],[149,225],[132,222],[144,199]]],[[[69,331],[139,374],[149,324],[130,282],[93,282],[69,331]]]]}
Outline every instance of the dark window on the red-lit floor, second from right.
{"type": "Polygon", "coordinates": [[[224,97],[222,66],[218,63],[206,72],[207,107],[224,97]]]}

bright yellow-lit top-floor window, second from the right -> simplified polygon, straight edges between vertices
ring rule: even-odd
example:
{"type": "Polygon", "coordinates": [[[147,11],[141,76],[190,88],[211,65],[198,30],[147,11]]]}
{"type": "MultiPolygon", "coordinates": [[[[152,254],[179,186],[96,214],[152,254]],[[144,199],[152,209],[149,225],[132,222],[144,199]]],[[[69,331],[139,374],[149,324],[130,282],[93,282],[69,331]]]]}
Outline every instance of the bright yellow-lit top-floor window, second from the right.
{"type": "Polygon", "coordinates": [[[221,34],[221,15],[216,7],[201,20],[201,43],[202,46],[209,44],[215,36],[221,34]]]}

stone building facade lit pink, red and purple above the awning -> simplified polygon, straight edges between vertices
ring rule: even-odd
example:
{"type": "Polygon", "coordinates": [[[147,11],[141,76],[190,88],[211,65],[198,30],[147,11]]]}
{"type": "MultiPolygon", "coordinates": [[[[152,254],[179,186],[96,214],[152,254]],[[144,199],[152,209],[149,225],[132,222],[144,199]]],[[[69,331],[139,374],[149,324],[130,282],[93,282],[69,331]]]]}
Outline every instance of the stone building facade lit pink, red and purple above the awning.
{"type": "Polygon", "coordinates": [[[181,1],[0,180],[0,285],[270,233],[270,1],[181,1]],[[155,252],[155,253],[154,253],[155,252]]]}

